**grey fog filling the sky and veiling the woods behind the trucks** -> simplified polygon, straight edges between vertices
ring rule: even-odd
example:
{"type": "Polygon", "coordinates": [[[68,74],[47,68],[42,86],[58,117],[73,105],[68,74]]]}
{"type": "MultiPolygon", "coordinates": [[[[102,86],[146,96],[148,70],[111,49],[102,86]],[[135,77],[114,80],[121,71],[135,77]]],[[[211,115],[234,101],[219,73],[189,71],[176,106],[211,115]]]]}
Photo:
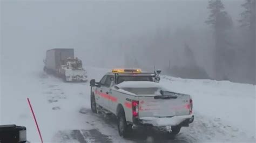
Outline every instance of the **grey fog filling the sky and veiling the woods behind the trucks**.
{"type": "MultiPolygon", "coordinates": [[[[236,42],[243,37],[238,19],[244,2],[223,0],[233,21],[229,38],[235,41],[236,49],[242,47],[236,42]]],[[[97,66],[153,70],[155,66],[164,74],[183,78],[255,82],[255,73],[250,73],[254,77],[245,77],[241,70],[250,67],[255,71],[255,66],[238,63],[225,66],[224,76],[231,76],[217,78],[214,32],[205,23],[210,15],[207,6],[208,1],[203,0],[1,1],[1,69],[43,70],[46,50],[73,48],[85,69],[97,66]],[[183,72],[190,71],[190,65],[196,65],[192,67],[196,76],[183,72]]],[[[239,57],[234,56],[233,62],[237,61],[239,57]]]]}

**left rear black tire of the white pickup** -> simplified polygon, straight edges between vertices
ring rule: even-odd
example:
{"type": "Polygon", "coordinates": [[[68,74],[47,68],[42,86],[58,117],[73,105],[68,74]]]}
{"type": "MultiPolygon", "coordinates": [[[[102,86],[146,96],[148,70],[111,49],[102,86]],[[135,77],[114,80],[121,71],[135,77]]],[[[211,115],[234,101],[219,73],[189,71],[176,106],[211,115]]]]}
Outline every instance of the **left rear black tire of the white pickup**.
{"type": "Polygon", "coordinates": [[[131,131],[131,127],[128,126],[126,123],[125,113],[123,108],[119,111],[117,115],[117,127],[118,127],[119,135],[123,138],[127,138],[131,131]]]}

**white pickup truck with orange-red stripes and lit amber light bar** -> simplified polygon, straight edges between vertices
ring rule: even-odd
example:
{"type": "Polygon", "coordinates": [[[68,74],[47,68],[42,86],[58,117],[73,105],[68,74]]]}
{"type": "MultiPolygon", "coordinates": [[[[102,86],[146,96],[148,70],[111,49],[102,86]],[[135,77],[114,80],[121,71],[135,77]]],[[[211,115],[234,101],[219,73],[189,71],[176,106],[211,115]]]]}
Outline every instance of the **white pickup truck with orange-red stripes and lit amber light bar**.
{"type": "Polygon", "coordinates": [[[92,79],[92,112],[116,115],[119,135],[124,138],[140,127],[178,134],[181,127],[194,120],[192,99],[161,87],[159,73],[114,69],[99,83],[92,79]]]}

